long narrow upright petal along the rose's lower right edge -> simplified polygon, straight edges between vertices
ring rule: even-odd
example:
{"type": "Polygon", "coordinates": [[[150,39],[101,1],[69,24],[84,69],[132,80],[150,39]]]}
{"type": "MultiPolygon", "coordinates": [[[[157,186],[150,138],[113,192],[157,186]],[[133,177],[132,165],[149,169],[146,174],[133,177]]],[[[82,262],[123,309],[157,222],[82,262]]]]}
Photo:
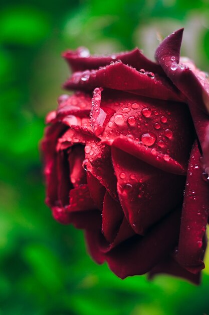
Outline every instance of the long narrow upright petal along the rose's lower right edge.
{"type": "Polygon", "coordinates": [[[189,160],[176,256],[180,265],[196,274],[204,268],[202,240],[209,209],[208,185],[202,179],[199,157],[200,152],[195,142],[189,160]]]}

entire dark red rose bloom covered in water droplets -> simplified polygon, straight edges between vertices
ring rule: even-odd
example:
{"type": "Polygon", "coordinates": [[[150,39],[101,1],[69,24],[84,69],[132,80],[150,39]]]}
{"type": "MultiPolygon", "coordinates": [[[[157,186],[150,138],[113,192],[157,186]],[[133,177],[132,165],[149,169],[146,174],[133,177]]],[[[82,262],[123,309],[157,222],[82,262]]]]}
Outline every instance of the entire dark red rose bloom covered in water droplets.
{"type": "Polygon", "coordinates": [[[204,268],[209,85],[179,57],[182,32],[164,39],[156,63],[137,48],[66,51],[64,88],[76,92],[47,116],[46,202],[120,278],[163,272],[197,284],[204,268]]]}

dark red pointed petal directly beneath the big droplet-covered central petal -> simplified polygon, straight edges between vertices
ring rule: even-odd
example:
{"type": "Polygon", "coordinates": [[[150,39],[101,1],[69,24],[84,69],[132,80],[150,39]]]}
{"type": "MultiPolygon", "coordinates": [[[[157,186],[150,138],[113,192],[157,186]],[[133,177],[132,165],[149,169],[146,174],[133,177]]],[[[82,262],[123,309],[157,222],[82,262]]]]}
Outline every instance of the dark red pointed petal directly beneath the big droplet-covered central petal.
{"type": "Polygon", "coordinates": [[[112,147],[120,203],[138,234],[156,223],[182,201],[185,177],[163,172],[112,147]]]}

